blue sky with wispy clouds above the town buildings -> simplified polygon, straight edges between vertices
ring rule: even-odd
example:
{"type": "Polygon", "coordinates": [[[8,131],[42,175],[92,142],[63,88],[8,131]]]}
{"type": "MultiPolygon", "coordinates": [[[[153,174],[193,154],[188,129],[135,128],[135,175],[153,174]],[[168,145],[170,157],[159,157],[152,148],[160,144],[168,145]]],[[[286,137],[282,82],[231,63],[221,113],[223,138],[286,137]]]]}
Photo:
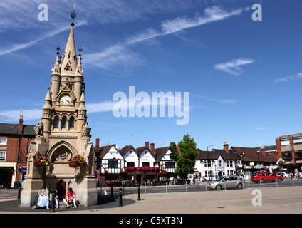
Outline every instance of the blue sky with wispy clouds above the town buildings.
{"type": "MultiPolygon", "coordinates": [[[[74,2],[93,143],[164,147],[189,133],[207,150],[224,141],[274,145],[280,135],[301,133],[301,1],[74,2]],[[253,4],[261,4],[262,21],[253,21],[253,4]],[[113,94],[128,95],[129,86],[150,96],[189,92],[189,123],[167,115],[116,118],[113,94]]],[[[18,123],[21,105],[24,124],[41,120],[74,2],[0,3],[1,123],[18,123]],[[48,21],[38,20],[42,3],[48,21]]]]}

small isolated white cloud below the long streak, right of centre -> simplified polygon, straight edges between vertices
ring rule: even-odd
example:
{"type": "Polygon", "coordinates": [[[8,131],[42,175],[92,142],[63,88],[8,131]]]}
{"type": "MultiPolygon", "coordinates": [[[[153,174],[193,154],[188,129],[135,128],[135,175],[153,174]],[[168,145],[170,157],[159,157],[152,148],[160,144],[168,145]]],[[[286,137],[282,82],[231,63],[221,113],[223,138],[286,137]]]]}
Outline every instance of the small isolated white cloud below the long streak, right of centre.
{"type": "Polygon", "coordinates": [[[254,59],[238,58],[227,63],[217,63],[215,64],[214,69],[231,73],[234,76],[239,76],[244,72],[240,66],[245,66],[250,63],[254,63],[254,59]]]}

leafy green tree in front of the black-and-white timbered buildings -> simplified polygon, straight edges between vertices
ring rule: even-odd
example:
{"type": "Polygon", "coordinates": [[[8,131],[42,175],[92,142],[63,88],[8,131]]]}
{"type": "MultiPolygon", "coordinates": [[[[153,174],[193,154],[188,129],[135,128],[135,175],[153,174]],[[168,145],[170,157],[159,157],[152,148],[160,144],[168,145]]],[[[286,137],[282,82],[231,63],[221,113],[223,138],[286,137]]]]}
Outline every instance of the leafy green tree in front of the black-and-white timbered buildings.
{"type": "Polygon", "coordinates": [[[182,141],[178,142],[180,155],[177,158],[175,173],[182,179],[186,179],[189,173],[194,173],[195,158],[199,155],[196,145],[194,138],[191,138],[189,134],[184,135],[182,141]]]}

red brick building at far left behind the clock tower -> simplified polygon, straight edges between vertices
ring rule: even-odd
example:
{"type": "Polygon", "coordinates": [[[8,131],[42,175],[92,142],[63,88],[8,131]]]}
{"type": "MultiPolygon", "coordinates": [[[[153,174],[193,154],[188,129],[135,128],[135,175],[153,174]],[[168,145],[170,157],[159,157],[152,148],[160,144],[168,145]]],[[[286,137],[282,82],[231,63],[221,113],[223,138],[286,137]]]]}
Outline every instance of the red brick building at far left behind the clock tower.
{"type": "Polygon", "coordinates": [[[23,183],[26,177],[26,155],[36,136],[34,125],[0,123],[0,185],[14,187],[14,182],[23,183]]]}

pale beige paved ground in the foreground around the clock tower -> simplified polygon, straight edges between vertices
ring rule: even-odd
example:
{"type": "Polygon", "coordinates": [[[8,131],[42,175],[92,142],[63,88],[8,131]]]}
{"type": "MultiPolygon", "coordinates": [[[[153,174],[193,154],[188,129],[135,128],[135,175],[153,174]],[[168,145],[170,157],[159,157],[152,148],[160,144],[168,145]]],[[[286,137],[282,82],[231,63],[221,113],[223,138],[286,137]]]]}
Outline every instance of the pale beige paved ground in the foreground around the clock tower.
{"type": "Polygon", "coordinates": [[[63,202],[56,213],[48,209],[19,207],[20,199],[1,200],[0,214],[301,214],[302,187],[266,187],[259,189],[170,192],[102,197],[100,204],[76,209],[63,202]]]}

